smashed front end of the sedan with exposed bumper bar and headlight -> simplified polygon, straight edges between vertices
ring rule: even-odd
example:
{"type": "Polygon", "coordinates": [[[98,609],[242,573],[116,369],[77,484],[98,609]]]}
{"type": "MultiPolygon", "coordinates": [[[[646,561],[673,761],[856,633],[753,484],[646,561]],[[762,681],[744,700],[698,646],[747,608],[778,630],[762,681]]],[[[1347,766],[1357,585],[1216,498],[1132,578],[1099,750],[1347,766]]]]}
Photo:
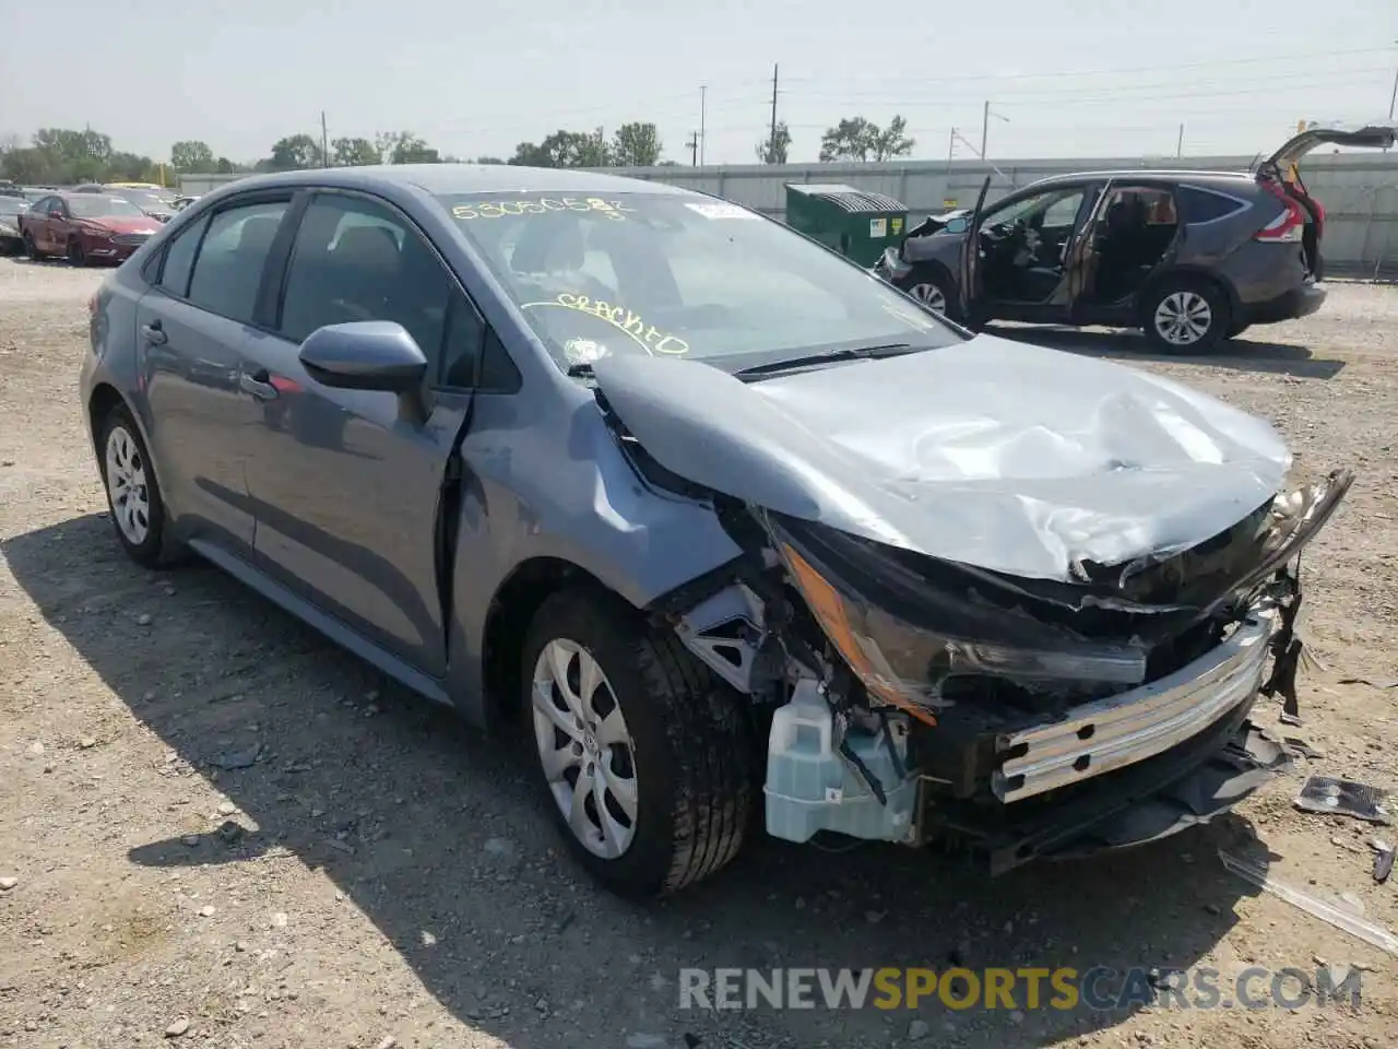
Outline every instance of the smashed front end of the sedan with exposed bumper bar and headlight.
{"type": "Polygon", "coordinates": [[[1248,715],[1260,694],[1295,709],[1299,554],[1352,480],[1071,583],[738,508],[744,579],[677,629],[772,711],[777,836],[952,838],[995,870],[1134,845],[1227,811],[1285,766],[1248,715]]]}

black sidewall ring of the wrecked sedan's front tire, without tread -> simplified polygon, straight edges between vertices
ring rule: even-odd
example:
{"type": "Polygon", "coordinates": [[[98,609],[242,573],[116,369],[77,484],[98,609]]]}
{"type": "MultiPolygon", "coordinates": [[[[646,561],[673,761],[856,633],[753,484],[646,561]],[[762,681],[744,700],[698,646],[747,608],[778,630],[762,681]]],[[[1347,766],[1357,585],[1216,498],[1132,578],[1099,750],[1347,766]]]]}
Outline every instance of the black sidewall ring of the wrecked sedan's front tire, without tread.
{"type": "Polygon", "coordinates": [[[665,878],[674,863],[678,808],[674,764],[675,748],[684,743],[671,738],[658,706],[649,702],[644,676],[637,664],[637,656],[646,648],[646,631],[640,615],[600,590],[555,594],[544,603],[530,625],[521,674],[527,745],[534,755],[540,792],[549,815],[573,855],[593,877],[624,895],[639,898],[664,892],[665,878]],[[570,641],[587,649],[597,660],[630,733],[636,768],[636,828],[630,846],[612,860],[597,856],[577,841],[544,775],[534,736],[531,692],[534,664],[552,641],[570,641]]]}

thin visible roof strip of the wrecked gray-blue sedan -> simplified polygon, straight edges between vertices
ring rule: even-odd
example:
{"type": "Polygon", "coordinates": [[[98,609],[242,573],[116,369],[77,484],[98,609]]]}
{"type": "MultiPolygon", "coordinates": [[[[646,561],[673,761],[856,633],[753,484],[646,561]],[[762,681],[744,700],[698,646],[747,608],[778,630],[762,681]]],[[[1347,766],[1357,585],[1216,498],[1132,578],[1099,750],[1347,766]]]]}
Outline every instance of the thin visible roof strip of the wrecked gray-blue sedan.
{"type": "Polygon", "coordinates": [[[679,186],[577,168],[523,168],[513,164],[383,164],[363,168],[310,168],[252,175],[242,189],[310,183],[341,189],[417,186],[433,196],[453,193],[665,193],[699,197],[679,186]]]}

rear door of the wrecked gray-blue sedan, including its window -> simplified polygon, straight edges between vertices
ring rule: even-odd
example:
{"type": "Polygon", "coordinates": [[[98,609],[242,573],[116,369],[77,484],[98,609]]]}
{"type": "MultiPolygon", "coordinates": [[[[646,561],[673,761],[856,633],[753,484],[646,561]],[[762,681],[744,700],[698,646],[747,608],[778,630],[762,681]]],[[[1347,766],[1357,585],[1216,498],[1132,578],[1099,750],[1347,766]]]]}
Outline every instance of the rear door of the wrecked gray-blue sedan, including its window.
{"type": "Polygon", "coordinates": [[[247,559],[250,436],[260,404],[239,385],[249,354],[274,337],[261,309],[267,263],[291,194],[235,197],[186,225],[147,264],[137,304],[151,449],[179,527],[247,559]]]}

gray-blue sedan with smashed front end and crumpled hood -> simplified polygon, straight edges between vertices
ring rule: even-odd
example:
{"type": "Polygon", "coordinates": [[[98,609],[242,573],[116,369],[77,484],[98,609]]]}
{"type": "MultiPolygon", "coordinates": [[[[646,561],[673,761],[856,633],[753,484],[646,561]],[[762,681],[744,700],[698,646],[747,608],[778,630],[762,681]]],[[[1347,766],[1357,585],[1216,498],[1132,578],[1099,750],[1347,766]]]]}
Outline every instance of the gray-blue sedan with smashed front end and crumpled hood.
{"type": "Polygon", "coordinates": [[[119,541],[196,552],[487,729],[628,895],[745,838],[994,871],[1288,762],[1297,564],[1349,488],[1146,372],[967,331],[691,192],[243,179],[91,302],[119,541]]]}

